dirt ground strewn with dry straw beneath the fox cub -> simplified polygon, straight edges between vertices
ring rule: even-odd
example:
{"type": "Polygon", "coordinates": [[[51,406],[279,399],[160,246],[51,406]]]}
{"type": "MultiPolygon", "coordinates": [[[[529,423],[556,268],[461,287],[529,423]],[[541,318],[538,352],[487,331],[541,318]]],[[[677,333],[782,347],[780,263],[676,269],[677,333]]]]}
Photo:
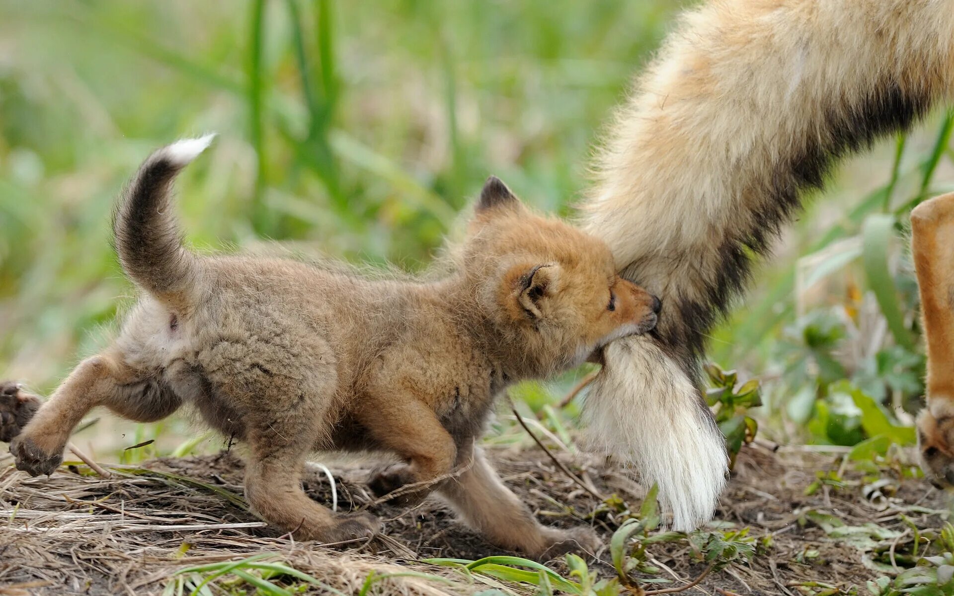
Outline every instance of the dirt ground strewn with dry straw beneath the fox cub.
{"type": "MultiPolygon", "coordinates": [[[[608,512],[547,454],[501,450],[492,457],[508,485],[544,523],[591,524],[609,544],[621,519],[618,511],[608,512]]],[[[645,496],[644,487],[601,458],[558,457],[584,483],[603,495],[617,495],[633,509],[645,496]]],[[[457,523],[436,500],[411,509],[374,504],[363,484],[370,463],[329,467],[336,479],[338,508],[370,504],[384,520],[383,534],[369,542],[331,547],[297,543],[261,523],[241,499],[242,462],[232,452],[114,466],[111,479],[99,478],[82,465],[31,479],[10,464],[9,456],[0,458],[0,594],[161,594],[178,569],[260,552],[276,553],[276,561],[344,593],[358,593],[371,572],[408,568],[441,575],[446,582],[391,577],[370,591],[530,592],[529,586],[419,563],[428,557],[474,560],[505,553],[457,523]]],[[[838,593],[855,587],[866,594],[867,580],[896,572],[894,565],[913,565],[913,528],[927,529],[929,535],[930,528],[940,527],[948,497],[922,480],[902,479],[897,470],[882,470],[881,480],[870,482],[848,467],[831,454],[747,447],[716,519],[724,527],[750,527],[761,548],[751,560],[715,571],[684,593],[800,595],[831,586],[840,589],[838,593]],[[842,473],[807,495],[818,470],[842,473]],[[826,525],[829,515],[850,531],[826,525]]],[[[331,484],[321,469],[309,470],[305,487],[321,503],[332,503],[331,484]]],[[[613,577],[607,547],[593,555],[588,560],[591,570],[613,577]]],[[[650,546],[649,563],[661,570],[657,577],[673,580],[668,586],[685,585],[707,566],[684,540],[650,546]]],[[[562,561],[550,565],[566,570],[562,561]]]]}

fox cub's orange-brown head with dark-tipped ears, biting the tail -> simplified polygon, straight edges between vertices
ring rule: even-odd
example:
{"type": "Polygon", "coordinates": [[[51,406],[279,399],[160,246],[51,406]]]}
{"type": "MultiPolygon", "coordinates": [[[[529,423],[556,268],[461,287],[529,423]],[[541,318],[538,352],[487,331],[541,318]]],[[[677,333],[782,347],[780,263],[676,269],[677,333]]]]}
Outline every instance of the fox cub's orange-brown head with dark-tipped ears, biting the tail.
{"type": "Polygon", "coordinates": [[[462,247],[481,308],[529,368],[588,359],[612,339],[653,329],[658,298],[616,275],[610,249],[557,219],[535,216],[487,179],[462,247]]]}

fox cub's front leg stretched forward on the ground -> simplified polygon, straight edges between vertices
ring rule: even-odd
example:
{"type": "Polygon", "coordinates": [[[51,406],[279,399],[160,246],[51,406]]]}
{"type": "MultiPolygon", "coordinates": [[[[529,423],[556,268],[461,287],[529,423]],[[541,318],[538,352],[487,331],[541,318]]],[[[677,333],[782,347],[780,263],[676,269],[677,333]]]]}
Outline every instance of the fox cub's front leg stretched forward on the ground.
{"type": "Polygon", "coordinates": [[[573,550],[592,553],[599,546],[589,527],[559,529],[537,522],[527,505],[500,481],[479,447],[462,449],[458,464],[464,472],[442,483],[440,491],[467,524],[491,543],[541,560],[573,550]]]}

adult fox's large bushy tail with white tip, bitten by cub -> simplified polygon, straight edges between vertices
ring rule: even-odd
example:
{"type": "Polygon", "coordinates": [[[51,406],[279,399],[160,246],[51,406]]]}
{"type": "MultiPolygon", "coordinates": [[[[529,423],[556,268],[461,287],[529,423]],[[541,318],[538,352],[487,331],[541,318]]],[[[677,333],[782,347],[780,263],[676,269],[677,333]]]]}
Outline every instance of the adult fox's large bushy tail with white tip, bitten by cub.
{"type": "Polygon", "coordinates": [[[684,15],[619,110],[581,206],[662,298],[587,408],[677,525],[707,520],[723,444],[697,389],[707,333],[831,164],[954,92],[954,0],[713,0],[684,15]]]}

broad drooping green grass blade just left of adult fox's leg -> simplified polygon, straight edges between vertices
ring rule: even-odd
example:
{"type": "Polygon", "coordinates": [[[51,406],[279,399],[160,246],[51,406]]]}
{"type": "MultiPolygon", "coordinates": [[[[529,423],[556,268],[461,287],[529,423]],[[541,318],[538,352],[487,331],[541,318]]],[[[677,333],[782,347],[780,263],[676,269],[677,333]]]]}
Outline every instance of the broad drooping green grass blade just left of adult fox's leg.
{"type": "Polygon", "coordinates": [[[878,298],[881,315],[887,320],[891,335],[905,348],[914,349],[915,340],[904,325],[894,277],[888,267],[888,249],[894,236],[894,224],[894,216],[889,215],[876,214],[865,219],[861,227],[861,261],[868,277],[868,286],[878,298]]]}

